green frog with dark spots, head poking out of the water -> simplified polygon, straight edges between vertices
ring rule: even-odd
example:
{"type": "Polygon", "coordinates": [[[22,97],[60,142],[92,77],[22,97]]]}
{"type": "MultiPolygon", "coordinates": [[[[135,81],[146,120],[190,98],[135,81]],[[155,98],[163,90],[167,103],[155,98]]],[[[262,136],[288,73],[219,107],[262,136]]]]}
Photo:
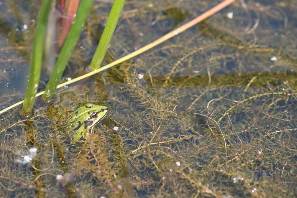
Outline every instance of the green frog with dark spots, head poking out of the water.
{"type": "Polygon", "coordinates": [[[104,104],[86,103],[72,113],[70,119],[71,130],[74,135],[71,144],[76,143],[81,137],[89,138],[94,126],[106,116],[109,106],[104,104]]]}

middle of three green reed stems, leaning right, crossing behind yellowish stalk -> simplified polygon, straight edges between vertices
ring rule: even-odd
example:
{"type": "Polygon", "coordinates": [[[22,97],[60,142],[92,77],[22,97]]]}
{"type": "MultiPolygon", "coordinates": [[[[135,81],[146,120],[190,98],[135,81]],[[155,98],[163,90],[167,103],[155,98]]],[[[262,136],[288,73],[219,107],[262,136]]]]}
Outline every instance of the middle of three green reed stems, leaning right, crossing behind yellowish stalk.
{"type": "Polygon", "coordinates": [[[49,78],[49,83],[43,95],[44,99],[49,100],[60,82],[62,74],[65,70],[66,64],[70,59],[70,56],[76,46],[76,43],[79,39],[79,35],[83,28],[84,22],[88,17],[88,13],[93,5],[93,0],[82,0],[77,9],[77,14],[74,19],[74,22],[70,28],[67,39],[63,45],[63,48],[60,52],[58,60],[54,66],[52,74],[49,78]]]}

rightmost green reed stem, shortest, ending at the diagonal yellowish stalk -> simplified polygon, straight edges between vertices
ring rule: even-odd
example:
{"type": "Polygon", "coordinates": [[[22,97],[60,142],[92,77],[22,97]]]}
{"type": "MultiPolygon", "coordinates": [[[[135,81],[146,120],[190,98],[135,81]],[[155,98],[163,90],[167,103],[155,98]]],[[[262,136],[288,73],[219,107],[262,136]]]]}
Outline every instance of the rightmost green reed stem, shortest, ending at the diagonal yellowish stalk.
{"type": "Polygon", "coordinates": [[[101,67],[101,62],[109,46],[110,40],[112,38],[116,24],[121,15],[124,4],[125,4],[125,0],[114,0],[110,14],[106,22],[106,26],[100,38],[99,45],[96,49],[96,52],[94,54],[94,57],[90,65],[90,67],[93,70],[96,70],[101,67]]]}

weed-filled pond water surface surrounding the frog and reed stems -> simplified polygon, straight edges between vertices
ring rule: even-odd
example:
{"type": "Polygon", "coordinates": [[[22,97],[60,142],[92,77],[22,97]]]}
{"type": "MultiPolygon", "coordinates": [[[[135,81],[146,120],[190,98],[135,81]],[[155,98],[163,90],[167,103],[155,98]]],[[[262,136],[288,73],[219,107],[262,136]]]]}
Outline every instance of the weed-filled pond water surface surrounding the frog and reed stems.
{"type": "MultiPolygon", "coordinates": [[[[86,73],[112,2],[95,1],[63,81],[86,73]]],[[[219,2],[127,1],[102,65],[219,2]]],[[[24,98],[39,5],[0,1],[0,110],[24,98]]],[[[59,90],[30,119],[21,106],[1,114],[0,197],[296,197],[296,9],[297,1],[238,0],[59,90]],[[72,112],[87,102],[112,108],[89,139],[71,144],[72,112]]]]}

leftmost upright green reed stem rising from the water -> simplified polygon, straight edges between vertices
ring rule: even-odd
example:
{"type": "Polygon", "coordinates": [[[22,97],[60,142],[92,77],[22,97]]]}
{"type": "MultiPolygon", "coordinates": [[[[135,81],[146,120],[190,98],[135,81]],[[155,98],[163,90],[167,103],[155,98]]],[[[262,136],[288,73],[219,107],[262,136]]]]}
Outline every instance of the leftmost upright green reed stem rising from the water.
{"type": "Polygon", "coordinates": [[[32,112],[35,95],[39,84],[46,27],[49,16],[49,9],[51,7],[50,4],[51,0],[44,0],[41,5],[38,26],[33,44],[29,83],[23,107],[21,109],[22,114],[26,116],[32,112]]]}

